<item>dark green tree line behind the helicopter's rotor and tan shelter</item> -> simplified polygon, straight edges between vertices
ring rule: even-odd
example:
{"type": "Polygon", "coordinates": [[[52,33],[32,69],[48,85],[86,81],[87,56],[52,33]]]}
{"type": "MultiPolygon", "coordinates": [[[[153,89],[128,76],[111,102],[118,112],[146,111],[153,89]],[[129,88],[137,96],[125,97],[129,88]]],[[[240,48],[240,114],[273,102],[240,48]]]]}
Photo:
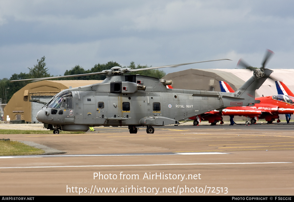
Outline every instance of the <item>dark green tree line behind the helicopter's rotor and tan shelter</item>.
{"type": "MultiPolygon", "coordinates": [[[[57,76],[57,75],[51,75],[48,73],[48,68],[45,67],[45,56],[41,59],[37,59],[37,64],[34,65],[34,67],[28,67],[29,73],[19,73],[19,74],[12,74],[9,79],[4,78],[0,80],[0,99],[2,101],[2,104],[8,103],[12,95],[20,90],[22,87],[27,85],[30,81],[17,81],[17,82],[9,82],[11,80],[21,80],[21,79],[31,79],[31,78],[42,78],[42,77],[51,77],[51,76],[57,76]],[[6,100],[7,99],[7,100],[6,100]]],[[[120,64],[117,62],[107,62],[106,64],[95,64],[94,67],[91,69],[85,70],[83,67],[76,65],[70,70],[66,70],[64,72],[64,75],[74,75],[74,74],[86,74],[86,73],[92,73],[92,72],[101,72],[106,69],[111,69],[112,67],[119,66],[120,64]]],[[[131,62],[128,68],[146,68],[147,65],[141,66],[141,65],[135,65],[134,62],[131,62]]],[[[148,69],[144,71],[138,71],[138,72],[130,72],[129,74],[142,74],[146,76],[152,76],[157,78],[162,78],[165,76],[165,72],[158,69],[148,69]]],[[[59,75],[60,76],[60,75],[59,75]]],[[[91,76],[83,76],[83,77],[67,77],[67,78],[59,78],[54,80],[104,80],[106,78],[106,75],[102,74],[96,74],[91,76]]]]}

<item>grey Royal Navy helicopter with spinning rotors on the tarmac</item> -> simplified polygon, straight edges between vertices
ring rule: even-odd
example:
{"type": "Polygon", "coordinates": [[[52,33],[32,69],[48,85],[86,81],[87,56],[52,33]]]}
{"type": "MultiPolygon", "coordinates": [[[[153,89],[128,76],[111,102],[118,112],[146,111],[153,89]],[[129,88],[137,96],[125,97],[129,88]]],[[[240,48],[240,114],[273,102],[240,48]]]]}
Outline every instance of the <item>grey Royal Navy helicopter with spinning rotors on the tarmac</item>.
{"type": "Polygon", "coordinates": [[[138,127],[145,126],[146,132],[150,134],[154,133],[155,126],[179,124],[180,120],[211,110],[230,106],[253,106],[257,102],[254,99],[255,90],[273,72],[264,67],[255,70],[253,76],[234,93],[169,89],[167,86],[171,85],[171,80],[127,74],[144,69],[195,63],[201,62],[142,69],[112,67],[102,72],[27,80],[107,75],[101,83],[63,90],[42,107],[36,118],[44,123],[44,128],[53,130],[54,134],[58,134],[60,130],[87,131],[89,126],[128,126],[130,133],[137,133],[138,127]]]}

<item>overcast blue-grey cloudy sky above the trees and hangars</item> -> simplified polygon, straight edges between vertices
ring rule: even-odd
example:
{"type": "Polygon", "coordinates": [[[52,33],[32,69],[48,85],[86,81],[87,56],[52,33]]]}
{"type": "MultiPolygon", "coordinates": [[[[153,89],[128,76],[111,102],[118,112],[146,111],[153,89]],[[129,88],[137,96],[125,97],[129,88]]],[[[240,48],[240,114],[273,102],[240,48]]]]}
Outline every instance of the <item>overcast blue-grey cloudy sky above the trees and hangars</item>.
{"type": "Polygon", "coordinates": [[[274,0],[1,0],[0,79],[28,73],[45,56],[53,75],[116,61],[161,66],[211,59],[183,69],[234,69],[240,58],[292,69],[294,4],[274,0]]]}

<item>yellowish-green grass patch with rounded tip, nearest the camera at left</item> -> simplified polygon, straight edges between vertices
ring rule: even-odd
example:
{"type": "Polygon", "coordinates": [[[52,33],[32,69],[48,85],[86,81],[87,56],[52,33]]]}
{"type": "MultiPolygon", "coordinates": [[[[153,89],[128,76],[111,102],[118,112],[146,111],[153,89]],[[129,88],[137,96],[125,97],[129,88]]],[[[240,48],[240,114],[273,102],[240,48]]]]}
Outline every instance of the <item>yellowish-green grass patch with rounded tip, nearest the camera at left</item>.
{"type": "Polygon", "coordinates": [[[42,153],[45,153],[45,151],[25,145],[24,143],[0,140],[0,156],[38,155],[42,153]]]}

